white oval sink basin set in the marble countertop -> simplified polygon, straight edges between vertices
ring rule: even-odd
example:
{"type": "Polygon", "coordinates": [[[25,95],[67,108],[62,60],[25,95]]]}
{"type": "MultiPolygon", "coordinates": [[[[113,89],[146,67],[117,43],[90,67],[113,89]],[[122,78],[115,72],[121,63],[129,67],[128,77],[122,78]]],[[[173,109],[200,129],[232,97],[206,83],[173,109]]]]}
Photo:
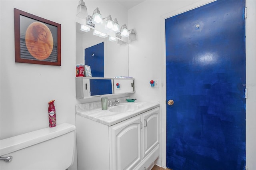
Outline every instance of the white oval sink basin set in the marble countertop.
{"type": "Polygon", "coordinates": [[[135,104],[135,103],[124,103],[124,104],[119,104],[117,106],[113,106],[113,107],[110,107],[109,111],[110,112],[116,112],[116,113],[122,113],[122,112],[132,112],[132,111],[136,111],[140,108],[142,108],[143,105],[138,105],[138,104],[135,104]]]}

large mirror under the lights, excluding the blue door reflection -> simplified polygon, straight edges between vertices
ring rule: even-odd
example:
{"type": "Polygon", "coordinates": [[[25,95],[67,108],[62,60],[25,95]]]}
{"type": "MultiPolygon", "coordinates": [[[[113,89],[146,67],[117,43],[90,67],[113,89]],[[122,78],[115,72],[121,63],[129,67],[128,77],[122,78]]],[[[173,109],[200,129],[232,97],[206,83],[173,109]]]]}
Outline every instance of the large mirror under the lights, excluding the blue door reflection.
{"type": "MultiPolygon", "coordinates": [[[[104,42],[104,77],[128,76],[128,43],[118,44],[107,38],[93,35],[80,30],[81,24],[76,23],[76,64],[85,63],[84,50],[104,42]]],[[[92,72],[92,77],[94,77],[92,72]]]]}

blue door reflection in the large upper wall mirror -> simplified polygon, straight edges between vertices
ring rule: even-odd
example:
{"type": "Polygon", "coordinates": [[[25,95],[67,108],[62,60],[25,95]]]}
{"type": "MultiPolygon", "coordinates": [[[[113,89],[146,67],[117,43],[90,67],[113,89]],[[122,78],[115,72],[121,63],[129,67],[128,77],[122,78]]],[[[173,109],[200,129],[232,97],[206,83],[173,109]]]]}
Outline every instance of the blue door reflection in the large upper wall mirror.
{"type": "Polygon", "coordinates": [[[92,77],[104,77],[104,42],[86,48],[84,61],[91,67],[92,77]]]}

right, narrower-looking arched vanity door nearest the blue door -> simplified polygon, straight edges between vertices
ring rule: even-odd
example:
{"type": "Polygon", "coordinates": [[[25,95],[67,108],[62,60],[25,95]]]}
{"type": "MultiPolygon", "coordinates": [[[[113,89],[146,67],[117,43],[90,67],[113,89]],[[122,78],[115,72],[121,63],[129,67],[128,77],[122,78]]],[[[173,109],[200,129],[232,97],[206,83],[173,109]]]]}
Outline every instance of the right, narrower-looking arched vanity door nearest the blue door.
{"type": "Polygon", "coordinates": [[[142,158],[159,143],[159,107],[142,114],[142,158]]]}

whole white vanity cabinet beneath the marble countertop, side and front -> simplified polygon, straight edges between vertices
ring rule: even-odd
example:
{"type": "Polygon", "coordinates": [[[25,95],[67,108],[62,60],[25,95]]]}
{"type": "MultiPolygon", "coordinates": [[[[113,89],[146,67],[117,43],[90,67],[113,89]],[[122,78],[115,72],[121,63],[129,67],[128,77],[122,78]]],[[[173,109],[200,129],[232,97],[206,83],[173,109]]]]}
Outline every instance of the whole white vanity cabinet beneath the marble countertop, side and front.
{"type": "Polygon", "coordinates": [[[159,156],[159,107],[108,126],[76,115],[78,170],[146,170],[159,156]]]}

